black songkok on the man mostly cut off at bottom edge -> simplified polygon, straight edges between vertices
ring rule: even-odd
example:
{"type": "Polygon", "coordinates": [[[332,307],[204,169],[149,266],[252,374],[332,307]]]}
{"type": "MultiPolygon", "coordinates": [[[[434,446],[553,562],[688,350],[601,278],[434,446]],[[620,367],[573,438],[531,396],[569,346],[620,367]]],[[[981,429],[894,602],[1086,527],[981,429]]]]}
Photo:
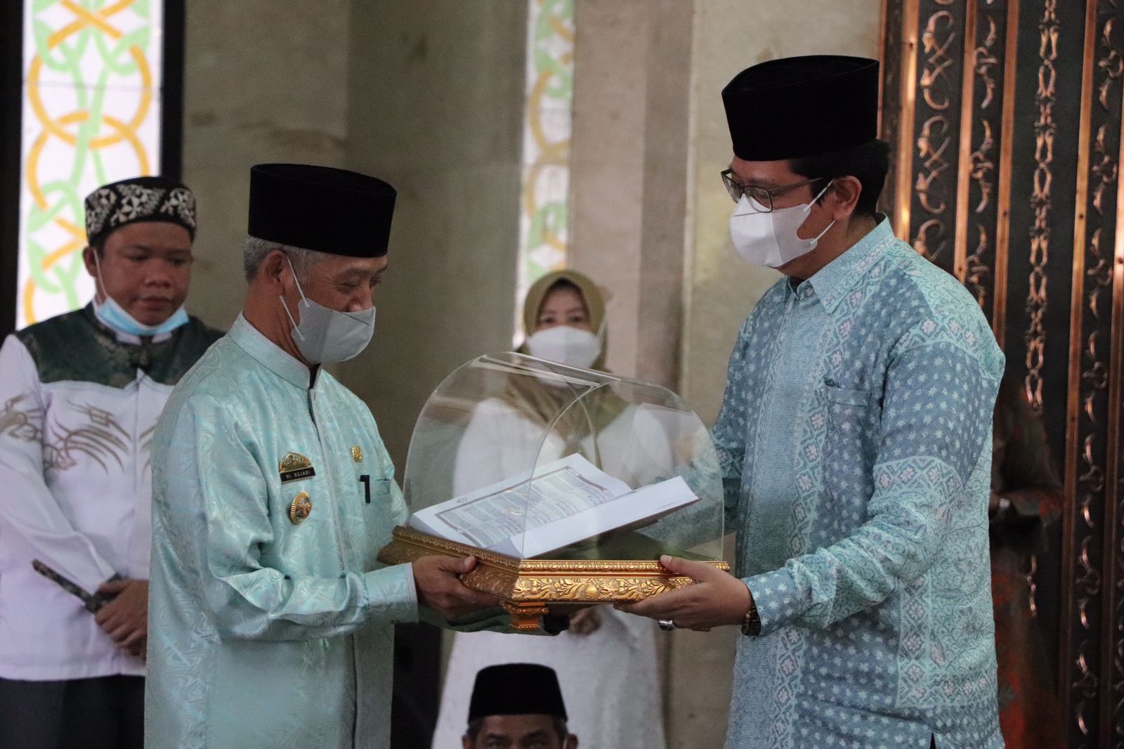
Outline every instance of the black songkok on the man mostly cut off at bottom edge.
{"type": "Polygon", "coordinates": [[[488,715],[553,715],[566,720],[554,669],[537,664],[489,666],[477,674],[469,722],[488,715]]]}

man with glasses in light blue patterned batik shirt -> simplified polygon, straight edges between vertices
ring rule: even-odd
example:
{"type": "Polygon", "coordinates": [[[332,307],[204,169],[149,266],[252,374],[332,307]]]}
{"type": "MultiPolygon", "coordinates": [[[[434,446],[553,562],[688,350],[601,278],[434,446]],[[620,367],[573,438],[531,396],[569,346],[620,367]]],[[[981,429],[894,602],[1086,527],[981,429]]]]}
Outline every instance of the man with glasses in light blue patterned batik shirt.
{"type": "Polygon", "coordinates": [[[780,279],[713,435],[737,577],[628,607],[738,624],[727,747],[1003,746],[988,574],[1003,354],[971,296],[876,213],[878,63],[795,57],[723,91],[734,247],[780,279]]]}

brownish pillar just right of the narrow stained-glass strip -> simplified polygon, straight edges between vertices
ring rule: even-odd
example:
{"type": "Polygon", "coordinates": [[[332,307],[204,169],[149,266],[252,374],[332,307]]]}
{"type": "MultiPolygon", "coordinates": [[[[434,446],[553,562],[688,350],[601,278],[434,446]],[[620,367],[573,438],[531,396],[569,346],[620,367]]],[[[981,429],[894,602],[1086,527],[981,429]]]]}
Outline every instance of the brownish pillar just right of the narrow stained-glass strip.
{"type": "Polygon", "coordinates": [[[578,0],[570,265],[609,295],[609,368],[678,379],[691,4],[578,0]]]}

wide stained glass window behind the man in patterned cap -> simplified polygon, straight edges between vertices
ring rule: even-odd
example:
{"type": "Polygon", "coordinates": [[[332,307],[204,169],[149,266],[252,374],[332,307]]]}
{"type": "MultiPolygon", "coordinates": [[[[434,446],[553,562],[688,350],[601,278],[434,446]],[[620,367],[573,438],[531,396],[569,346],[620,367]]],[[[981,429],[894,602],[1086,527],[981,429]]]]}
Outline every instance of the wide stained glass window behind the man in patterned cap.
{"type": "Polygon", "coordinates": [[[161,0],[24,0],[16,325],[85,304],[82,198],[157,173],[161,0]]]}

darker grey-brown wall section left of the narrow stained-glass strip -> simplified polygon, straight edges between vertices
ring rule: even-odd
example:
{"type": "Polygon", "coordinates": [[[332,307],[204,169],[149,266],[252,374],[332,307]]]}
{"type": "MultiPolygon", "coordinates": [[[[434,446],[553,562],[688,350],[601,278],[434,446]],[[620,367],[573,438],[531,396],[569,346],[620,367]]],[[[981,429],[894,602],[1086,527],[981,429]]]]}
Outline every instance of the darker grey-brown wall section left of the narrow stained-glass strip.
{"type": "Polygon", "coordinates": [[[526,6],[357,0],[351,16],[346,160],[398,202],[374,341],[337,371],[401,470],[442,379],[511,348],[526,6]]]}

